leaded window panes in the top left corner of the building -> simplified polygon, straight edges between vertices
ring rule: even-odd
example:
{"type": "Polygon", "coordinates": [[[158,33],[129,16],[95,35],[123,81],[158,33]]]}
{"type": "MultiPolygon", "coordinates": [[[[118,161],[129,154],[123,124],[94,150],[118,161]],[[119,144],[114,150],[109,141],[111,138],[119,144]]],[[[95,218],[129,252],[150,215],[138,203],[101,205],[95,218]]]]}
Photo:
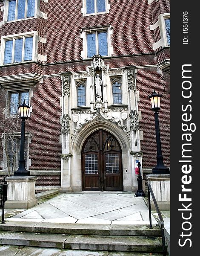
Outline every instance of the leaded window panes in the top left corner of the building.
{"type": "Polygon", "coordinates": [[[8,21],[34,17],[35,0],[9,0],[8,21]]]}

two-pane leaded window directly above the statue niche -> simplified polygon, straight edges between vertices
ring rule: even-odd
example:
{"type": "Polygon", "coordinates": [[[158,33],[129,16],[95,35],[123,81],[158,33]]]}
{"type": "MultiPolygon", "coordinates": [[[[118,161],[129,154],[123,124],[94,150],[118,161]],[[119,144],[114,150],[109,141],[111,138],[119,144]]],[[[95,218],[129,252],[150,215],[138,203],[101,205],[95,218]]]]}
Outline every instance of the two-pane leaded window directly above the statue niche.
{"type": "Polygon", "coordinates": [[[107,32],[87,34],[87,57],[90,58],[94,54],[108,55],[107,32]]]}

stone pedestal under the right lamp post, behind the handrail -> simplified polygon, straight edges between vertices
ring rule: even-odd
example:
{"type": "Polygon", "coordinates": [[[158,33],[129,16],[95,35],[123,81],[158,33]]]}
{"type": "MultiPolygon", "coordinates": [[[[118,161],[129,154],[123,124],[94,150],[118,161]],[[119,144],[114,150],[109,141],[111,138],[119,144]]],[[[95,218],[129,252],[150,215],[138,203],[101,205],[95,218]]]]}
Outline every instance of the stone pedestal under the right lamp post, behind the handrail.
{"type": "MultiPolygon", "coordinates": [[[[147,182],[151,185],[160,210],[170,210],[170,174],[146,175],[147,182]]],[[[155,209],[151,198],[151,209],[155,209]]]]}

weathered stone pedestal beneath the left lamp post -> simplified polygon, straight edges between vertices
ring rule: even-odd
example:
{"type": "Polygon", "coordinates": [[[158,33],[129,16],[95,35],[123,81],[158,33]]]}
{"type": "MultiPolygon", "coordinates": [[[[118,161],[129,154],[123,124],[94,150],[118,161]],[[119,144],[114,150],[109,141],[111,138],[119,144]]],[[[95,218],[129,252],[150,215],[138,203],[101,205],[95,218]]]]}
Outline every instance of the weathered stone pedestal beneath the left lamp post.
{"type": "Polygon", "coordinates": [[[6,177],[8,195],[5,202],[6,209],[29,209],[37,205],[35,198],[35,176],[6,177]]]}

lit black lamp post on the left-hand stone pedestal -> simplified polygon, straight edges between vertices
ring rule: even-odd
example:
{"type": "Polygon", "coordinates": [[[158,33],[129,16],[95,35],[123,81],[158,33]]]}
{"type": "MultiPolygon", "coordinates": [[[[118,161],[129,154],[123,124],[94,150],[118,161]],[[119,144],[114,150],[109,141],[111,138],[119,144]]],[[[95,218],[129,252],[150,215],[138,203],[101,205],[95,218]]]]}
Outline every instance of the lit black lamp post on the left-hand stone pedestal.
{"type": "Polygon", "coordinates": [[[23,104],[18,106],[19,116],[21,118],[21,143],[20,143],[20,164],[17,171],[14,172],[14,176],[30,176],[30,172],[25,168],[24,160],[24,143],[25,143],[25,120],[28,118],[30,106],[23,104]]]}

